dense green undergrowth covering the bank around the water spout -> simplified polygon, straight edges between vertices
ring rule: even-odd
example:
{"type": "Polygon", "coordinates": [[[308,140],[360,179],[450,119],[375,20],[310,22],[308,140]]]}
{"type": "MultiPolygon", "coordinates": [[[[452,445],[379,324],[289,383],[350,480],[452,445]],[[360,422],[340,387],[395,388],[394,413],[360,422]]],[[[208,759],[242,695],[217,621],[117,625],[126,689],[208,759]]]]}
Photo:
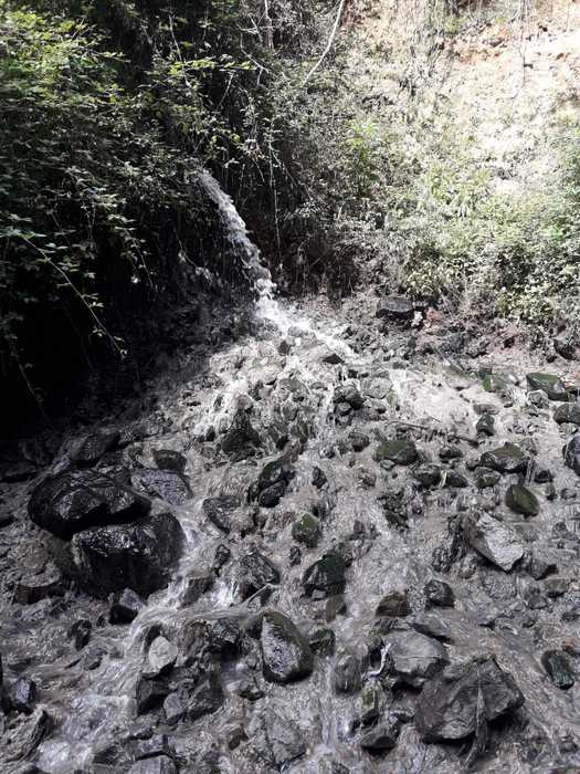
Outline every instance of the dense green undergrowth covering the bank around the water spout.
{"type": "Polygon", "coordinates": [[[420,109],[446,44],[484,15],[393,0],[404,23],[362,63],[394,71],[401,112],[352,70],[377,4],[340,6],[310,74],[338,8],[323,0],[0,0],[0,378],[42,402],[158,338],[198,269],[240,282],[202,166],[288,292],[362,274],[540,332],[576,323],[578,128],[552,133],[560,164],[538,190],[498,191],[452,116],[420,109]]]}

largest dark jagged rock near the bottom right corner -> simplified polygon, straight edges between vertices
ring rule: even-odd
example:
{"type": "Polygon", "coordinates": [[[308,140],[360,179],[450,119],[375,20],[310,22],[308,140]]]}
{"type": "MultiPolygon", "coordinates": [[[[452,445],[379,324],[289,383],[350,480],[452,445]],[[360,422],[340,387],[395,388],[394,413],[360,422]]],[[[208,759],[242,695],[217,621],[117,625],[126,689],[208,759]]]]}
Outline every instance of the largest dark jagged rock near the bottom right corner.
{"type": "Polygon", "coordinates": [[[514,678],[488,658],[430,680],[418,699],[415,725],[425,742],[465,739],[478,722],[496,720],[523,703],[514,678]]]}

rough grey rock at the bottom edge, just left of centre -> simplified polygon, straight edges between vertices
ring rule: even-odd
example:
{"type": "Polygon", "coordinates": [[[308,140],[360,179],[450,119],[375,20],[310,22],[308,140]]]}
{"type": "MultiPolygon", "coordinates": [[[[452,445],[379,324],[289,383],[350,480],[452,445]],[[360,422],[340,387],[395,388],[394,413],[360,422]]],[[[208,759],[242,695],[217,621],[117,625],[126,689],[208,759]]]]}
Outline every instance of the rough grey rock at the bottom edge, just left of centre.
{"type": "Polygon", "coordinates": [[[259,760],[283,771],[307,750],[306,738],[296,723],[277,709],[254,713],[247,736],[259,760]]]}

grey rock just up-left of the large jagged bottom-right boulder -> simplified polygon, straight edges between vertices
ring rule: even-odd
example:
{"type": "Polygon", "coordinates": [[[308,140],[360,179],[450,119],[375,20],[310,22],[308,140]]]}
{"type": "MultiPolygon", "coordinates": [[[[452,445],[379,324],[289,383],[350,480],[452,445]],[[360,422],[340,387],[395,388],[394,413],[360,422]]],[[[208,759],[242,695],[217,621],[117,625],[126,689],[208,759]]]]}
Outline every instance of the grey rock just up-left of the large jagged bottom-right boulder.
{"type": "Polygon", "coordinates": [[[419,688],[449,663],[445,648],[418,631],[397,631],[386,637],[392,671],[404,683],[419,688]]]}

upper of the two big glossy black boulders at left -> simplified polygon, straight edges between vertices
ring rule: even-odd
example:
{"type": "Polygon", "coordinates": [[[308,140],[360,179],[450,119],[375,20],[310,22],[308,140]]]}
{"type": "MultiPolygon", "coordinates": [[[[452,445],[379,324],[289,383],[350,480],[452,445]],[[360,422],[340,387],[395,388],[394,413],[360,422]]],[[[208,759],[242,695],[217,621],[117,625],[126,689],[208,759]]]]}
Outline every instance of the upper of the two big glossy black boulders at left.
{"type": "Polygon", "coordinates": [[[149,509],[147,498],[93,470],[45,478],[33,490],[28,505],[36,526],[63,540],[92,526],[134,521],[147,515],[149,509]]]}

